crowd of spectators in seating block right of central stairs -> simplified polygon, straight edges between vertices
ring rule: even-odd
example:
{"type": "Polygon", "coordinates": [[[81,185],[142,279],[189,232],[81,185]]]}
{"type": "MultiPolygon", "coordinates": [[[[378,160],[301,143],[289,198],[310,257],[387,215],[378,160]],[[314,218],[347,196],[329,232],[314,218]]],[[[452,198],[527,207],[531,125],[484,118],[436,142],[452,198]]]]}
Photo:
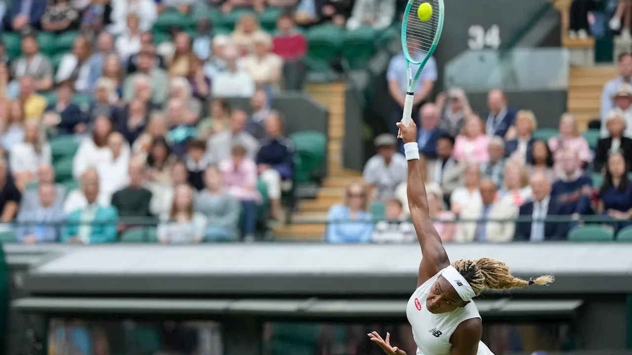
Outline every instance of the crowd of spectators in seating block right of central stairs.
{"type": "MultiPolygon", "coordinates": [[[[399,61],[392,59],[387,74],[400,108],[393,123],[403,105],[399,61]]],[[[591,123],[600,126],[593,145],[569,113],[560,117],[556,133],[538,137],[535,114],[511,107],[501,90],[488,93],[485,116],[472,112],[460,89],[439,93],[432,102],[435,71],[433,65],[422,71],[413,119],[428,207],[443,241],[564,240],[585,224],[585,215],[602,215],[615,231],[632,224],[630,54],[619,57],[620,75],[604,87],[602,117],[591,123]],[[547,216],[559,217],[544,221],[547,216]]],[[[364,185],[349,186],[345,203],[330,210],[325,239],[332,243],[414,239],[401,142],[393,132],[374,143],[377,154],[365,165],[364,185]]]]}

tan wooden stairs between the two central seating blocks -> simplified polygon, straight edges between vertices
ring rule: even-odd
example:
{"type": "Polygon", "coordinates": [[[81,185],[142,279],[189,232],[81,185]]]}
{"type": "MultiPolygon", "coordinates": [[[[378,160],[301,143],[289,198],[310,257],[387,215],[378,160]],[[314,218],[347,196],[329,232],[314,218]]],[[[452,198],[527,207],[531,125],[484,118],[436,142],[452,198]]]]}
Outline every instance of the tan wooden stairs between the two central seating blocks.
{"type": "Polygon", "coordinates": [[[293,223],[274,229],[275,239],[296,241],[320,241],[325,233],[327,210],[334,203],[343,202],[344,187],[361,181],[360,172],[344,169],[342,147],[344,140],[344,97],[346,84],[310,83],[307,92],[319,104],[329,110],[327,132],[327,176],[313,200],[301,200],[294,213],[293,223]]]}

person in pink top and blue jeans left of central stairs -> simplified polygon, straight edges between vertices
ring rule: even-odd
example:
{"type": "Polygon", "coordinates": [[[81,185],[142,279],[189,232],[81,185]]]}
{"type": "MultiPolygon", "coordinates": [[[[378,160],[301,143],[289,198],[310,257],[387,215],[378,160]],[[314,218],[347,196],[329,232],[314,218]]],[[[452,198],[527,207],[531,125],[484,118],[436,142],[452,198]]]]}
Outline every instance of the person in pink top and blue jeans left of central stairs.
{"type": "Polygon", "coordinates": [[[257,224],[257,203],[261,201],[257,190],[257,164],[246,157],[246,148],[234,145],[231,157],[219,164],[219,170],[224,175],[226,191],[241,202],[244,239],[253,241],[257,224]]]}

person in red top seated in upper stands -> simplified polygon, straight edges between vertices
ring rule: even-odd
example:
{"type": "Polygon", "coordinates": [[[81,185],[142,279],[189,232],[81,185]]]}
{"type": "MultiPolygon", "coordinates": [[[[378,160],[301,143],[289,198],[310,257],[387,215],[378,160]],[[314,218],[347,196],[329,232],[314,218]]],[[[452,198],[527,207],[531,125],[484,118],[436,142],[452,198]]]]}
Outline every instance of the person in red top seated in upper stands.
{"type": "Polygon", "coordinates": [[[284,61],[294,61],[305,56],[307,39],[295,28],[294,19],[285,13],[277,19],[277,33],[272,39],[272,52],[284,61]]]}

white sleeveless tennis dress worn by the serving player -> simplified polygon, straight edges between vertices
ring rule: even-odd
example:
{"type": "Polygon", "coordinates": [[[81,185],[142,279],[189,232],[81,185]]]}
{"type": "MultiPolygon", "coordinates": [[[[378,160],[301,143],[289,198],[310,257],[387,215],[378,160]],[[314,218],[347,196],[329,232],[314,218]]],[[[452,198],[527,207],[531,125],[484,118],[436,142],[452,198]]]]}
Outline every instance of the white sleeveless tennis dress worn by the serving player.
{"type": "MultiPolygon", "coordinates": [[[[406,304],[406,317],[413,327],[413,338],[417,344],[417,355],[450,355],[452,344],[450,337],[461,322],[480,318],[474,301],[465,307],[448,313],[435,315],[426,308],[426,298],[430,288],[441,272],[419,286],[406,304]]],[[[494,355],[483,342],[478,342],[477,355],[494,355]]]]}

